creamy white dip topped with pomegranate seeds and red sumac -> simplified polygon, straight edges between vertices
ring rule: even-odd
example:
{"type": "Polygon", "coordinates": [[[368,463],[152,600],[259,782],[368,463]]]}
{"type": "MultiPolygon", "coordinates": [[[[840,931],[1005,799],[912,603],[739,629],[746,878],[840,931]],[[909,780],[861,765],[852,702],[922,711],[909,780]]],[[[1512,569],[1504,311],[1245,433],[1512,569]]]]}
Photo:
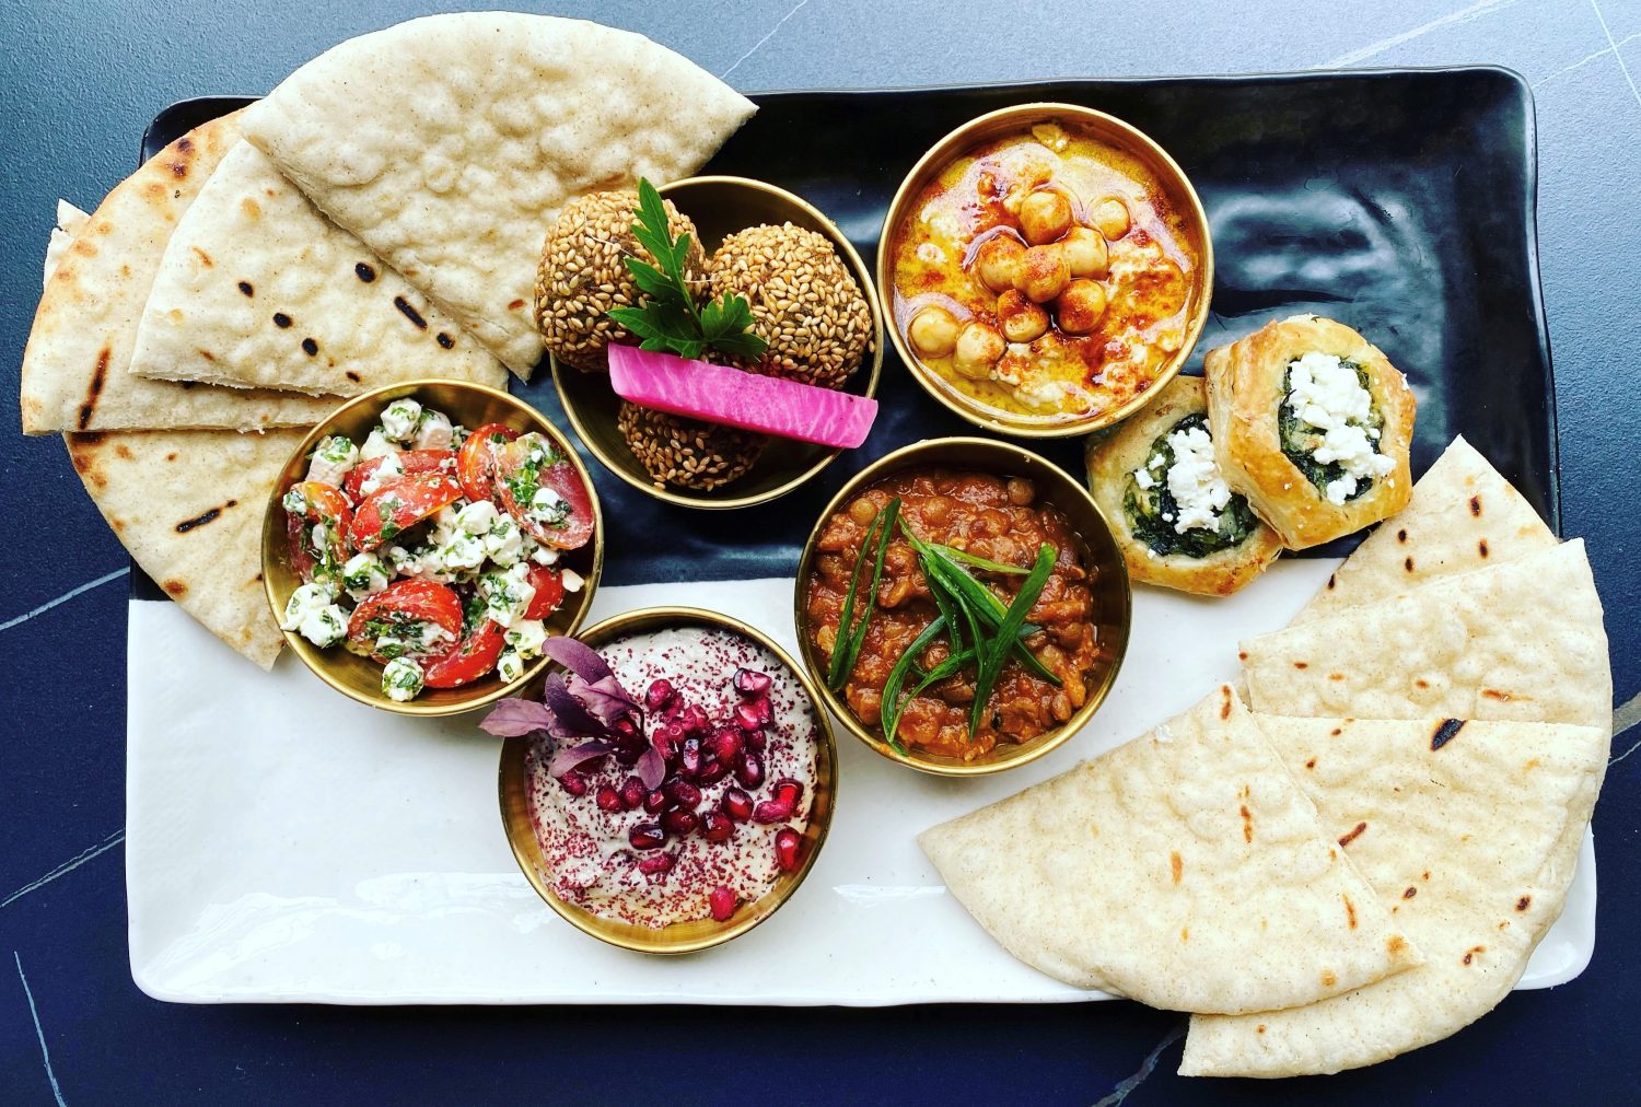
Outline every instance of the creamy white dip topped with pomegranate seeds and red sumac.
{"type": "Polygon", "coordinates": [[[643,702],[614,751],[551,774],[532,738],[530,822],[560,899],[642,927],[727,920],[802,863],[819,725],[773,653],[727,630],[678,626],[599,649],[643,702]],[[643,787],[648,743],[666,772],[643,787]]]}

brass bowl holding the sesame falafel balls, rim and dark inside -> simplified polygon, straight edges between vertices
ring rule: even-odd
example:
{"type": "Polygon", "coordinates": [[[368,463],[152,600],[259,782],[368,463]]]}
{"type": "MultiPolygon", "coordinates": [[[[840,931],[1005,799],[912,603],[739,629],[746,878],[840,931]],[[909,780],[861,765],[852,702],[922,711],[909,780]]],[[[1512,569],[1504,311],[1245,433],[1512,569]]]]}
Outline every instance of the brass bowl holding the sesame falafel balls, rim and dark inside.
{"type": "MultiPolygon", "coordinates": [[[[830,239],[839,257],[855,276],[860,294],[871,310],[871,348],[866,351],[866,361],[850,376],[843,390],[855,395],[876,395],[878,377],[883,372],[883,308],[866,262],[860,259],[848,238],[832,220],[807,200],[747,177],[689,177],[663,185],[660,194],[694,221],[696,231],[701,235],[701,248],[709,257],[725,238],[760,223],[793,223],[830,239]]],[[[551,359],[551,364],[553,385],[558,389],[560,403],[565,405],[565,415],[569,417],[569,425],[576,428],[576,435],[581,436],[592,456],[632,487],[668,503],[709,510],[765,503],[809,481],[843,453],[812,443],[776,438],[745,476],[729,484],[709,492],[674,485],[661,489],[638,464],[615,425],[620,397],[610,390],[609,376],[583,372],[560,364],[556,358],[551,359]]]]}

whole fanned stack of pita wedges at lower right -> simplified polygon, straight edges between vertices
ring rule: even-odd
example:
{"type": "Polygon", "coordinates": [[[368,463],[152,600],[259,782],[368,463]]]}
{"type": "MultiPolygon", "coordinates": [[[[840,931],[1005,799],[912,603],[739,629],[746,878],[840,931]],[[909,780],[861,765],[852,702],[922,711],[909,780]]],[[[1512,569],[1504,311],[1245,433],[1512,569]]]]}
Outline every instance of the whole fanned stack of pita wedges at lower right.
{"type": "Polygon", "coordinates": [[[1464,440],[1287,630],[1149,735],[919,838],[1011,953],[1193,1012],[1186,1076],[1446,1038],[1561,913],[1611,741],[1579,540],[1464,440]]]}

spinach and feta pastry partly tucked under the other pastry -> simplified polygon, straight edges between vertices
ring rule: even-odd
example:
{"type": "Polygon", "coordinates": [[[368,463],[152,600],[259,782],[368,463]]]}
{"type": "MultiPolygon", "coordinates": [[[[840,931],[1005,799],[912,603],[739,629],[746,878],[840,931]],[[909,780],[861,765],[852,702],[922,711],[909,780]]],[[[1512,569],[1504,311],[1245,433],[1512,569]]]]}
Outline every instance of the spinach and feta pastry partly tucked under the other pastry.
{"type": "Polygon", "coordinates": [[[1095,436],[1088,487],[1134,581],[1229,595],[1282,553],[1219,472],[1201,377],[1175,377],[1137,415],[1095,436]]]}

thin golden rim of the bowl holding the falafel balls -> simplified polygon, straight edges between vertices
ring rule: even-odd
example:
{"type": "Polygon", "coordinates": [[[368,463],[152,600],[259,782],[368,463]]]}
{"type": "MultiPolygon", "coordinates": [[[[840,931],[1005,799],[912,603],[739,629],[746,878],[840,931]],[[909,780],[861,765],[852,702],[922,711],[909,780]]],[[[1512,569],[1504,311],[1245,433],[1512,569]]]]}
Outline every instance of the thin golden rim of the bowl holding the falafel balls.
{"type": "MultiPolygon", "coordinates": [[[[871,279],[871,271],[866,267],[866,262],[862,261],[860,253],[855,249],[855,244],[848,241],[848,236],[842,231],[842,228],[839,228],[839,225],[832,221],[832,218],[829,218],[816,205],[804,200],[801,195],[788,192],[779,185],[773,185],[768,180],[758,180],[755,177],[735,177],[727,174],[704,174],[697,177],[681,177],[678,180],[666,182],[665,185],[656,189],[656,192],[660,192],[665,197],[670,192],[681,189],[684,185],[720,185],[720,187],[734,185],[734,187],[750,187],[758,192],[766,192],[781,200],[783,203],[789,203],[798,210],[804,212],[807,216],[816,220],[816,223],[819,223],[824,228],[827,238],[832,239],[832,244],[840,249],[845,264],[848,264],[850,271],[855,274],[855,280],[860,282],[860,292],[866,300],[866,308],[871,312],[871,331],[873,331],[871,371],[866,376],[865,390],[860,392],[858,395],[875,399],[878,395],[878,384],[883,379],[883,335],[884,330],[888,328],[884,326],[883,321],[884,318],[883,303],[881,297],[878,295],[878,287],[871,279]]],[[[757,503],[768,503],[770,500],[776,500],[786,495],[788,492],[793,492],[801,485],[807,484],[809,481],[812,481],[816,476],[820,474],[822,469],[837,461],[839,454],[843,453],[842,446],[827,449],[819,456],[819,459],[816,459],[812,466],[809,466],[793,479],[786,481],[784,484],[779,484],[773,489],[765,489],[763,492],[753,492],[748,495],[706,499],[706,495],[702,494],[681,492],[673,487],[658,489],[655,487],[653,481],[629,472],[619,458],[612,458],[609,451],[599,446],[597,441],[591,435],[587,435],[586,420],[583,418],[576,405],[571,402],[569,395],[566,395],[565,392],[565,379],[569,374],[581,374],[581,371],[563,366],[558,361],[558,358],[551,354],[548,354],[548,366],[553,376],[553,389],[558,394],[558,405],[565,410],[565,418],[569,420],[569,426],[576,431],[576,436],[587,448],[587,453],[597,458],[599,464],[609,469],[617,479],[625,482],[629,487],[633,487],[643,492],[645,495],[661,500],[663,503],[676,503],[678,507],[691,507],[702,512],[729,512],[742,507],[753,507],[757,503]]],[[[860,369],[855,369],[855,374],[858,372],[860,369]]]]}

